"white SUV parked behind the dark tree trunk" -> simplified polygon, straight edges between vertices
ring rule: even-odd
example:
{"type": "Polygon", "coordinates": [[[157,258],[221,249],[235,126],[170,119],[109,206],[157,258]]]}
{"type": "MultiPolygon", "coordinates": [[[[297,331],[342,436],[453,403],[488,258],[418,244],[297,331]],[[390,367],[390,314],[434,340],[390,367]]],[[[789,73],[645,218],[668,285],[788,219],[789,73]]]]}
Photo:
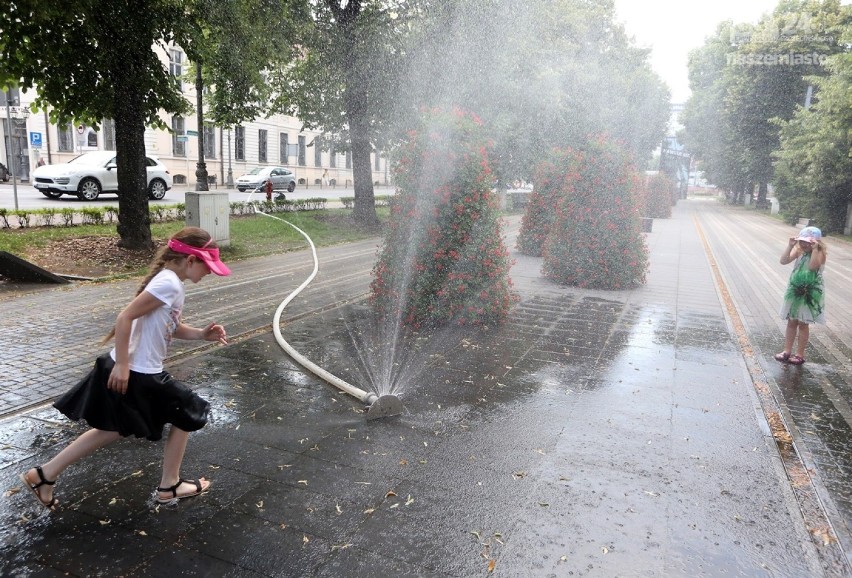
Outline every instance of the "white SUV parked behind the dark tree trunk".
{"type": "MultiPolygon", "coordinates": [[[[159,200],[172,188],[172,175],[157,157],[145,157],[148,197],[159,200]]],[[[67,163],[37,167],[33,186],[45,197],[58,199],[76,195],[81,201],[94,201],[101,193],[118,193],[118,166],[115,151],[83,153],[67,163]]]]}

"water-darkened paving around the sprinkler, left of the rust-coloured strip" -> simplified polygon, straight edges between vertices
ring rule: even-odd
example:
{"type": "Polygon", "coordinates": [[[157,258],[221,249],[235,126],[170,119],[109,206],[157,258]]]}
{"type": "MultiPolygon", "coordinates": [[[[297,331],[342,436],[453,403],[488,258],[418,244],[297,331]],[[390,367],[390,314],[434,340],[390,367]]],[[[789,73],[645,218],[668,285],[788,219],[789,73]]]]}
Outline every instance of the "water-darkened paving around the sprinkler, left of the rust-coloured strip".
{"type": "MultiPolygon", "coordinates": [[[[284,333],[361,385],[345,328],[365,314],[284,333]]],[[[2,502],[0,563],[24,575],[471,576],[496,559],[515,576],[594,573],[604,553],[611,574],[637,556],[661,575],[808,573],[778,535],[789,517],[766,491],[774,448],[746,425],[723,318],[539,297],[502,327],[408,345],[406,411],[376,422],[271,335],[182,361],[174,375],[213,406],[184,473],[212,491],[177,515],[158,509],[162,445],[114,444],[66,472],[55,515],[36,517],[25,495],[2,502]]],[[[49,409],[18,423],[6,459],[40,463],[81,431],[49,409]]]]}

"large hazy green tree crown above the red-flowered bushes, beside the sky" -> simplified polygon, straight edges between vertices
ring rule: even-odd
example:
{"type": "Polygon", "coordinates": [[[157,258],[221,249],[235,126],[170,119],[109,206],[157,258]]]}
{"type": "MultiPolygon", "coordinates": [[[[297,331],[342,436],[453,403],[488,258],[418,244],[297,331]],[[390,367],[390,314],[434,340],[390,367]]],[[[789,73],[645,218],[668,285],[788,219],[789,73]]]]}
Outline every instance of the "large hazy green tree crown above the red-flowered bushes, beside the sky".
{"type": "Polygon", "coordinates": [[[615,23],[612,2],[456,0],[425,14],[403,92],[479,115],[502,180],[530,178],[551,148],[591,134],[640,158],[662,140],[668,90],[615,23]]]}

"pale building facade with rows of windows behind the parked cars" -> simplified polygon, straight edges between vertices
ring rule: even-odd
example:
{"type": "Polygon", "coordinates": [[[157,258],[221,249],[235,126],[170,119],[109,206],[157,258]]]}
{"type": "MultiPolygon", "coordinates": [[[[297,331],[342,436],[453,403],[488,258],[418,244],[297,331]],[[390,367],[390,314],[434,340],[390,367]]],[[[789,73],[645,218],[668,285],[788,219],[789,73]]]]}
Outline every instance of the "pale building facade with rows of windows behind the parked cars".
{"type": "MultiPolygon", "coordinates": [[[[183,93],[189,102],[196,102],[193,83],[185,81],[186,54],[180,47],[157,49],[163,66],[182,78],[183,93]]],[[[63,163],[77,155],[94,150],[115,150],[115,124],[104,119],[100,126],[90,127],[67,123],[56,125],[49,121],[47,111],[29,112],[35,100],[32,93],[12,90],[8,106],[3,106],[2,159],[23,181],[39,163],[63,163]],[[6,113],[9,113],[9,119],[6,113]],[[11,142],[10,142],[11,136],[11,142]],[[13,158],[14,157],[14,158],[13,158]]],[[[5,95],[4,95],[5,96],[5,95]]],[[[148,128],[145,131],[145,152],[158,157],[174,177],[175,185],[196,182],[199,140],[204,139],[204,159],[211,188],[227,186],[234,179],[258,166],[283,166],[294,173],[299,186],[319,187],[323,182],[337,186],[352,186],[351,153],[322,150],[322,135],[302,130],[295,117],[273,115],[235,127],[206,124],[199,128],[196,114],[167,115],[160,118],[172,131],[148,128]]],[[[376,151],[371,156],[373,182],[380,185],[390,181],[388,161],[376,151]]]]}

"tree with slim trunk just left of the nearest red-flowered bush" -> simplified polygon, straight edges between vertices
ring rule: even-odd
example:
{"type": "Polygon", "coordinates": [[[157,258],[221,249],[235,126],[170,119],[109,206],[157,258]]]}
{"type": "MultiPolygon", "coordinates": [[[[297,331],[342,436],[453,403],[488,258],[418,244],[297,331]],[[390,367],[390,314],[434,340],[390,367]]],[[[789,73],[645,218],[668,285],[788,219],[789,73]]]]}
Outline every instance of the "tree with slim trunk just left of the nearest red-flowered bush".
{"type": "Polygon", "coordinates": [[[295,38],[296,58],[281,59],[270,75],[271,110],[324,131],[335,151],[351,151],[354,216],[376,226],[370,153],[384,142],[393,116],[415,8],[406,0],[318,0],[311,7],[309,24],[295,38]]]}

